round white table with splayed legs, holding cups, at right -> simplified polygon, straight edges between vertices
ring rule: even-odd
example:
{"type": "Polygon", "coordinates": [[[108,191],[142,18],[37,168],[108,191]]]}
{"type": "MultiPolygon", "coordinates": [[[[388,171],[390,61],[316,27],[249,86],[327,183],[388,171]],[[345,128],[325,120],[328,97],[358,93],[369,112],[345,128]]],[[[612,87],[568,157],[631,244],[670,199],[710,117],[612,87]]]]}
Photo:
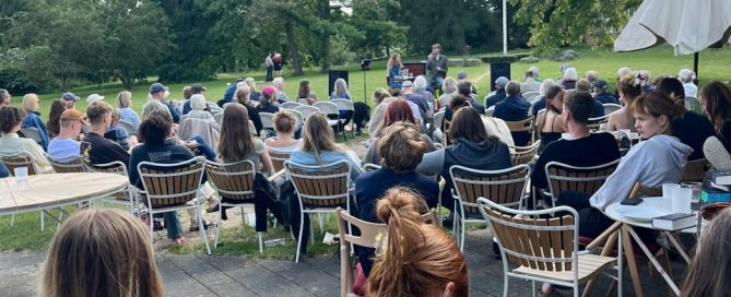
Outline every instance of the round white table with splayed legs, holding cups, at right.
{"type": "MultiPolygon", "coordinates": [[[[658,209],[663,209],[667,207],[665,205],[669,205],[670,203],[662,197],[649,197],[649,198],[642,198],[642,203],[632,206],[632,207],[658,207],[658,209]]],[[[648,217],[647,222],[644,221],[638,221],[634,218],[626,217],[622,214],[620,211],[621,209],[620,203],[615,203],[612,205],[606,206],[604,213],[606,216],[616,221],[617,223],[622,224],[622,229],[618,231],[618,239],[622,242],[621,245],[624,246],[624,254],[627,258],[627,264],[629,266],[629,273],[632,275],[632,281],[633,285],[635,287],[635,294],[637,296],[642,296],[641,292],[641,286],[639,283],[639,272],[637,271],[637,263],[635,262],[635,251],[632,248],[632,241],[637,243],[637,246],[642,250],[647,259],[650,260],[652,265],[660,272],[662,277],[665,280],[670,288],[675,293],[676,296],[680,296],[680,289],[675,282],[670,277],[668,272],[662,268],[658,259],[650,252],[650,250],[647,248],[645,242],[639,238],[639,235],[637,235],[637,231],[635,228],[647,228],[647,229],[656,229],[660,230],[665,234],[668,237],[668,240],[677,249],[677,251],[681,253],[683,259],[689,264],[691,263],[691,258],[687,256],[685,252],[683,246],[676,240],[676,238],[672,235],[673,233],[686,233],[686,234],[696,234],[698,228],[697,227],[689,227],[681,230],[663,230],[663,229],[658,229],[653,228],[651,224],[651,218],[648,217]]],[[[620,272],[620,277],[622,277],[622,272],[620,272]]],[[[618,288],[622,289],[622,288],[618,288]]]]}

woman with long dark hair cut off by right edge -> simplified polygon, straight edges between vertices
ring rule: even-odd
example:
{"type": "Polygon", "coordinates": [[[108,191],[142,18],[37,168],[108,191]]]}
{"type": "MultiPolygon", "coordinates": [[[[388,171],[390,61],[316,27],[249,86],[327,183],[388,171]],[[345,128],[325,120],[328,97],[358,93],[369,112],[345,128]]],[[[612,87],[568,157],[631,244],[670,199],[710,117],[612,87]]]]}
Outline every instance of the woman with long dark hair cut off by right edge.
{"type": "Polygon", "coordinates": [[[731,88],[721,82],[710,82],[700,90],[700,105],[712,122],[716,134],[703,145],[711,166],[731,169],[731,88]]]}

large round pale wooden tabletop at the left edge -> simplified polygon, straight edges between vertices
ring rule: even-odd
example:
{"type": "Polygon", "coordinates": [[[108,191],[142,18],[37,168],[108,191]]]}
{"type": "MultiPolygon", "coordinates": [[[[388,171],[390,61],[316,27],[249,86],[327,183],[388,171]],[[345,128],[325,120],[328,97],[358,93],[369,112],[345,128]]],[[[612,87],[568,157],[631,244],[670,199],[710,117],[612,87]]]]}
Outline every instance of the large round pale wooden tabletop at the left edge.
{"type": "Polygon", "coordinates": [[[0,215],[51,209],[125,189],[126,176],[105,173],[48,174],[28,176],[27,187],[15,178],[0,179],[0,215]]]}

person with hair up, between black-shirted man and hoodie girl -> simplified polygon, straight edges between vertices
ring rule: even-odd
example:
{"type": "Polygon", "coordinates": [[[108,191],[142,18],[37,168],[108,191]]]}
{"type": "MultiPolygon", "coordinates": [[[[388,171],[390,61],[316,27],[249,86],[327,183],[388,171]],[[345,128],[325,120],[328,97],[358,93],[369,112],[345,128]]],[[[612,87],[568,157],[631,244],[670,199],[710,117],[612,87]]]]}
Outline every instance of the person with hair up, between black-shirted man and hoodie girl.
{"type": "Polygon", "coordinates": [[[606,131],[637,131],[635,128],[635,116],[630,109],[635,98],[642,94],[642,86],[637,75],[639,75],[637,72],[632,72],[620,78],[617,92],[620,93],[620,100],[624,106],[609,116],[606,131]]]}

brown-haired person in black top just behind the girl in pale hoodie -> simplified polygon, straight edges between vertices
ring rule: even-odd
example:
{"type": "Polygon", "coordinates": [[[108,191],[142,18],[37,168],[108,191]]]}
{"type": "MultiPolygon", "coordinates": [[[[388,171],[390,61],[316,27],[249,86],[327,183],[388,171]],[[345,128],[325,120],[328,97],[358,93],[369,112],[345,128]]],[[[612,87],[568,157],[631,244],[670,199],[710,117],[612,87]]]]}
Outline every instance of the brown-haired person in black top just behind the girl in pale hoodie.
{"type": "MultiPolygon", "coordinates": [[[[655,92],[673,98],[679,102],[679,105],[685,106],[685,88],[683,87],[683,83],[675,78],[660,80],[655,87],[655,92]]],[[[672,135],[693,148],[693,154],[688,156],[688,161],[705,157],[703,154],[703,144],[708,138],[716,135],[714,124],[710,123],[708,118],[692,110],[685,110],[683,117],[673,119],[670,126],[672,135]]]]}

